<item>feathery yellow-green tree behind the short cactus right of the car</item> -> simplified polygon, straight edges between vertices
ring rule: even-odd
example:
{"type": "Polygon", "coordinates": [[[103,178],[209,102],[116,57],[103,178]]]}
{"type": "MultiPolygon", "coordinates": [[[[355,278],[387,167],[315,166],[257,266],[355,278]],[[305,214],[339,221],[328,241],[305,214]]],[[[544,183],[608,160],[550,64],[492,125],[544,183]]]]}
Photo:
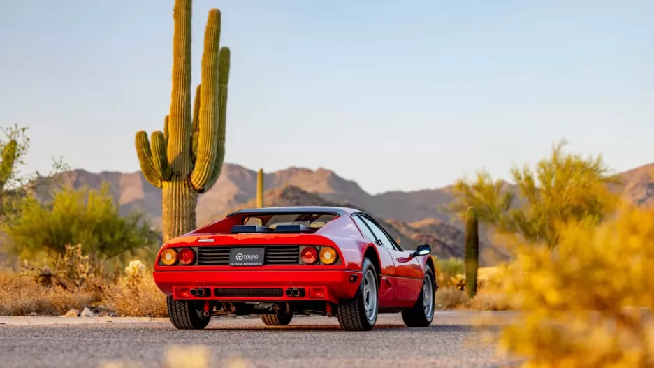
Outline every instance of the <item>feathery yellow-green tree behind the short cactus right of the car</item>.
{"type": "Polygon", "coordinates": [[[618,184],[602,156],[567,154],[566,142],[552,147],[551,155],[535,170],[514,166],[515,186],[493,180],[481,171],[473,180],[459,179],[453,186],[455,200],[449,207],[463,216],[468,207],[477,209],[480,223],[500,233],[516,233],[530,242],[546,242],[553,248],[560,241],[560,227],[571,221],[599,223],[618,204],[608,184],[618,184]]]}

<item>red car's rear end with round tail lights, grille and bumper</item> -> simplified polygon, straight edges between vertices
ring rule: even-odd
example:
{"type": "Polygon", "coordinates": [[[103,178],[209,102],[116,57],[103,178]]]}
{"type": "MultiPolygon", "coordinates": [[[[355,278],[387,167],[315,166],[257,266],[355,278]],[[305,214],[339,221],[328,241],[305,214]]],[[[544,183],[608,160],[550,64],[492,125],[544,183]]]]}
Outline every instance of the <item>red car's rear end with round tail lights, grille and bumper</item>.
{"type": "MultiPolygon", "coordinates": [[[[259,218],[273,221],[268,215],[259,218]]],[[[320,228],[301,221],[271,228],[249,224],[252,216],[247,214],[228,217],[165,244],[157,255],[154,281],[173,300],[197,301],[209,314],[284,309],[329,315],[332,304],[356,293],[361,279],[361,272],[346,270],[339,246],[321,235],[339,218],[328,217],[320,228]]]]}

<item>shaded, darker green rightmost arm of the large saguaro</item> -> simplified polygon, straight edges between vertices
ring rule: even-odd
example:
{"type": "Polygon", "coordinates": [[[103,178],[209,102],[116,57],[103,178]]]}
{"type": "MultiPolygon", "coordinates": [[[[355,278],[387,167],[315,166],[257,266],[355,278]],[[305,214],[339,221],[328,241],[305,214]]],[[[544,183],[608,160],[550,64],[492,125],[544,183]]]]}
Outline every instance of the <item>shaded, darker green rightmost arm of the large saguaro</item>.
{"type": "Polygon", "coordinates": [[[209,182],[201,191],[211,189],[220,177],[220,172],[225,160],[225,137],[227,126],[227,84],[229,82],[229,59],[230,51],[228,47],[221,47],[220,49],[220,62],[219,62],[219,76],[218,76],[218,140],[216,147],[216,163],[213,167],[213,172],[209,182]]]}

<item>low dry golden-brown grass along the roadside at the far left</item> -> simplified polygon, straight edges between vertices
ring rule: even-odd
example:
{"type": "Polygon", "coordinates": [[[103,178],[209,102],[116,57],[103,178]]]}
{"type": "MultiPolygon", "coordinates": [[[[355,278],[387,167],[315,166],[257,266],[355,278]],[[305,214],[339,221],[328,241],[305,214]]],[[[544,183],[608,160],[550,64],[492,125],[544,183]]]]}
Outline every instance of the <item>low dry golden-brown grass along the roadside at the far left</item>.
{"type": "Polygon", "coordinates": [[[0,273],[0,315],[27,316],[31,312],[60,316],[70,309],[82,309],[94,301],[94,295],[71,292],[58,286],[44,287],[30,277],[15,272],[0,273]]]}

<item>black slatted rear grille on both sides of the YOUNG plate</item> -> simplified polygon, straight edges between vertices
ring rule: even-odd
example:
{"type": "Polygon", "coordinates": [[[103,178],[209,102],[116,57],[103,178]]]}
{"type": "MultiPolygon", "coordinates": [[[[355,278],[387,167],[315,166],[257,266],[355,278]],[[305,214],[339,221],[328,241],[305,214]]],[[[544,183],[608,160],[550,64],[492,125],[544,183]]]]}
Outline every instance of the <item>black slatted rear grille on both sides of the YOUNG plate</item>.
{"type": "MultiPolygon", "coordinates": [[[[227,266],[229,265],[229,252],[232,246],[198,246],[198,265],[201,266],[227,266]]],[[[242,246],[239,246],[242,248],[242,246]]],[[[264,246],[264,265],[299,265],[300,246],[298,245],[272,245],[264,246]]]]}

